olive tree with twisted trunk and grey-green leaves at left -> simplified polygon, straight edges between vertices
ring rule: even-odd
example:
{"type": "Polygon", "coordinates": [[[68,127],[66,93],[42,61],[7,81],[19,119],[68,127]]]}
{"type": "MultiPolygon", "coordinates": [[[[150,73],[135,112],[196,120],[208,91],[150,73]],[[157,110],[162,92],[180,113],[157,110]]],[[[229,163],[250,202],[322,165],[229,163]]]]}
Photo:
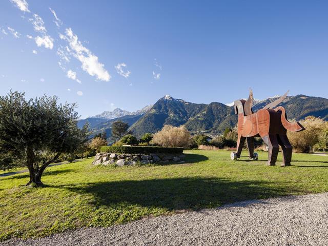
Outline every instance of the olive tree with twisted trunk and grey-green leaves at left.
{"type": "Polygon", "coordinates": [[[88,129],[77,127],[76,104],[58,104],[56,96],[25,99],[17,91],[0,96],[0,152],[27,166],[27,185],[41,177],[61,153],[73,153],[87,140],[88,129]]]}

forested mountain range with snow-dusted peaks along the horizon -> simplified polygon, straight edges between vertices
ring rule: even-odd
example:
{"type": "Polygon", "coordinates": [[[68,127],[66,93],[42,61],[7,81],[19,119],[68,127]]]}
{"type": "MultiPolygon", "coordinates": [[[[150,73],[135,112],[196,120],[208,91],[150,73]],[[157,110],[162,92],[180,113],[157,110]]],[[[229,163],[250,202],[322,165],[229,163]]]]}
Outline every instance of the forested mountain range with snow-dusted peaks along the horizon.
{"type": "MultiPolygon", "coordinates": [[[[253,111],[263,108],[277,97],[254,99],[253,111]]],[[[194,104],[165,95],[154,105],[146,106],[136,112],[116,108],[113,111],[105,111],[93,117],[81,119],[78,121],[78,126],[82,127],[89,122],[93,134],[105,131],[108,138],[111,135],[111,124],[116,120],[127,122],[130,126],[129,130],[137,137],[147,132],[155,133],[164,125],[184,125],[193,134],[218,135],[227,127],[234,127],[237,124],[237,115],[234,114],[232,105],[217,102],[194,104]]],[[[326,98],[306,95],[288,96],[280,105],[286,109],[291,119],[300,120],[313,115],[328,120],[328,99],[326,98]]]]}

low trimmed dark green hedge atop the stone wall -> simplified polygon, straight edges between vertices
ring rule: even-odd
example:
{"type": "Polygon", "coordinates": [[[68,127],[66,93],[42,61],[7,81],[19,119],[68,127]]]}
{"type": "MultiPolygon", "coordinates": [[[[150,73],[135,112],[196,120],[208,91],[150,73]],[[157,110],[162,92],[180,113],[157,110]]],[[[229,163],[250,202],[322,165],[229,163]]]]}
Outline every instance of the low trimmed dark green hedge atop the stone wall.
{"type": "Polygon", "coordinates": [[[102,146],[100,152],[124,153],[124,154],[181,154],[183,148],[180,147],[155,147],[155,146],[102,146]]]}

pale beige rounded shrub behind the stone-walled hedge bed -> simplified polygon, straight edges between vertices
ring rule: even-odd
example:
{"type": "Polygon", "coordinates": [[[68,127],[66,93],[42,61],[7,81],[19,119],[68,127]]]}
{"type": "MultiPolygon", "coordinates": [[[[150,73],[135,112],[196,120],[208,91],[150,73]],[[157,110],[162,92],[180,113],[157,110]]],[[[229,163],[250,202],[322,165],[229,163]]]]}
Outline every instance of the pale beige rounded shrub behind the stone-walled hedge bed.
{"type": "Polygon", "coordinates": [[[166,125],[153,136],[152,142],[159,146],[189,147],[191,145],[190,132],[184,127],[166,125]]]}

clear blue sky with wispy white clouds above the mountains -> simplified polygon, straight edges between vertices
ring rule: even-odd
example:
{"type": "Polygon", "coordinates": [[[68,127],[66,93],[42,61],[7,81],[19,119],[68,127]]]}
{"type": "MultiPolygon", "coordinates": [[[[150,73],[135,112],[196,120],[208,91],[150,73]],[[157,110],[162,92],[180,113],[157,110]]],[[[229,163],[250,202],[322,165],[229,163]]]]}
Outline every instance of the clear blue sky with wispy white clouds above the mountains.
{"type": "Polygon", "coordinates": [[[154,104],[328,97],[327,1],[0,2],[1,95],[57,95],[82,118],[154,104]],[[56,16],[55,16],[55,15],[56,16]]]}

